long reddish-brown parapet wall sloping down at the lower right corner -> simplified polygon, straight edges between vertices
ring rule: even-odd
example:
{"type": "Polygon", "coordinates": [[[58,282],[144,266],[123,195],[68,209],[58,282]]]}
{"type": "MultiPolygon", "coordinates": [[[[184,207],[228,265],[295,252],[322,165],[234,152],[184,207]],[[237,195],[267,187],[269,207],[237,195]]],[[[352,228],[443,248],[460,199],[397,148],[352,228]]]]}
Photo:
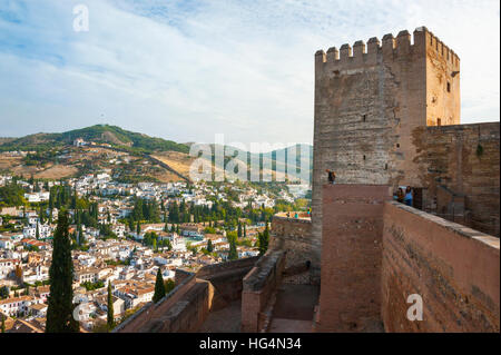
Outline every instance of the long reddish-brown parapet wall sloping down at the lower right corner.
{"type": "Polygon", "coordinates": [[[499,239],[386,203],[381,292],[386,332],[499,332],[499,239]],[[411,294],[422,322],[406,317],[411,294]]]}

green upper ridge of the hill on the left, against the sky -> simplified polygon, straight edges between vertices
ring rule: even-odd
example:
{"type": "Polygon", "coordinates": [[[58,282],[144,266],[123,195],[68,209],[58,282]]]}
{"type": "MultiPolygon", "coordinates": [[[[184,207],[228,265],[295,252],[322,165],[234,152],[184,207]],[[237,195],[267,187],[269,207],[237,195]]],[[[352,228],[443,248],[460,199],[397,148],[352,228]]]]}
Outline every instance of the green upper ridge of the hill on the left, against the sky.
{"type": "Polygon", "coordinates": [[[96,125],[62,134],[36,134],[21,138],[4,139],[3,142],[0,140],[0,151],[46,150],[55,148],[55,146],[71,145],[77,138],[96,144],[109,144],[112,147],[122,148],[131,152],[189,151],[187,145],[163,138],[149,137],[109,125],[96,125]]]}

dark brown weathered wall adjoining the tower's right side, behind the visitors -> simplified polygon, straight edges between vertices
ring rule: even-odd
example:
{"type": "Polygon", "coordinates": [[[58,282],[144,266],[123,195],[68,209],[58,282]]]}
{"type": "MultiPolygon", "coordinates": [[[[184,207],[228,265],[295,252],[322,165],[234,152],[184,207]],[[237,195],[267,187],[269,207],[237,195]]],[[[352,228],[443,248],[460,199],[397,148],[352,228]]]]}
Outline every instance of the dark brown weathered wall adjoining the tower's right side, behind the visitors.
{"type": "MultiPolygon", "coordinates": [[[[419,179],[413,186],[426,187],[424,210],[444,214],[439,186],[464,195],[470,211],[464,223],[483,233],[500,236],[500,124],[422,127],[414,131],[419,151],[414,164],[419,179]],[[479,145],[482,152],[478,151],[479,145]],[[435,206],[433,198],[436,197],[435,206]]],[[[456,214],[461,211],[456,209],[456,214]]],[[[448,218],[449,219],[449,218],[448,218]]]]}

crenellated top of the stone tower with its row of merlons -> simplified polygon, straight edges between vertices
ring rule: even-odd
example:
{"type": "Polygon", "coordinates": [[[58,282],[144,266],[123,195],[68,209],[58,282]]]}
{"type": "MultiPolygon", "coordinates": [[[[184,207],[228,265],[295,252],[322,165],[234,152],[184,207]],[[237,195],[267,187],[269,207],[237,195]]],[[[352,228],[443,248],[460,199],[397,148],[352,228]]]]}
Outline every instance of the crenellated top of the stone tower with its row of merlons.
{"type": "Polygon", "coordinates": [[[413,43],[411,43],[411,33],[407,30],[400,31],[393,37],[392,33],[383,37],[382,43],[376,37],[369,40],[367,46],[364,41],[358,40],[353,45],[353,49],[348,43],[343,45],[340,50],[332,47],[325,53],[318,50],[315,53],[315,66],[328,63],[334,69],[356,68],[357,65],[376,65],[377,56],[383,57],[383,61],[399,60],[410,55],[426,55],[428,51],[434,51],[438,56],[450,62],[454,68],[460,68],[460,59],[458,55],[445,46],[433,32],[426,27],[419,27],[413,32],[413,43]]]}

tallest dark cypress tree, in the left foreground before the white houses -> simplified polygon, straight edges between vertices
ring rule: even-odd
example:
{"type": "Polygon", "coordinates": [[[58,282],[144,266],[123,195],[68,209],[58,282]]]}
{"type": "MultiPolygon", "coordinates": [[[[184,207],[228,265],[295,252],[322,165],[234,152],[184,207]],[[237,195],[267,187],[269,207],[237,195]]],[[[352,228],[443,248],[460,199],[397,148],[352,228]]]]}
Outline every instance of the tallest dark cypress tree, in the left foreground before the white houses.
{"type": "Polygon", "coordinates": [[[53,234],[52,263],[49,268],[50,296],[47,309],[46,333],[78,333],[73,318],[73,263],[68,233],[68,213],[60,211],[53,234]]]}

